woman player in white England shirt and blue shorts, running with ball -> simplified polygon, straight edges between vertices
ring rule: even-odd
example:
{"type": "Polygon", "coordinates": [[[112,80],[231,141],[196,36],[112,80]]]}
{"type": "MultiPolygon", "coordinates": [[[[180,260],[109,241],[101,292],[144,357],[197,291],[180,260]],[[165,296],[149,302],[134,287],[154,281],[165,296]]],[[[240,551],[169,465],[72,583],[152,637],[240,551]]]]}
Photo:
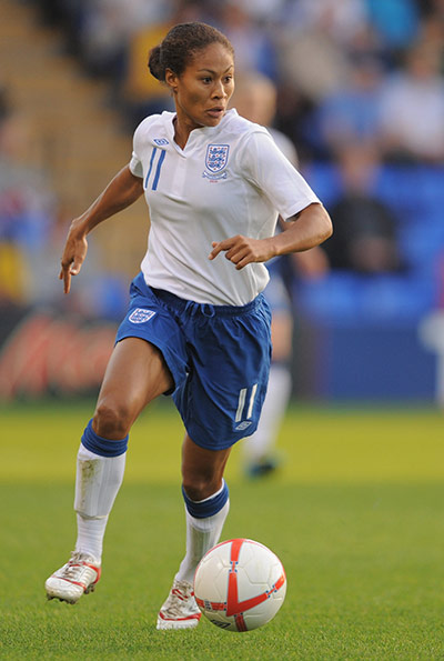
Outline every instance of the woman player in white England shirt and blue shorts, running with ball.
{"type": "Polygon", "coordinates": [[[198,22],[175,26],[151,51],[150,71],[169,87],[175,112],[138,127],[130,163],[72,221],[61,260],[68,293],[88,233],[144,193],[149,248],[78,454],[75,550],[46,590],[70,603],[93,590],[130,428],[151,400],[171,393],[185,427],[186,553],[158,629],[199,622],[193,574],[229,511],[225,463],[233,443],[258,425],[271,353],[263,262],[307,250],[332,231],[266,130],[226,110],[233,58],[229,40],[198,22]],[[274,236],[278,213],[294,222],[274,236]]]}

